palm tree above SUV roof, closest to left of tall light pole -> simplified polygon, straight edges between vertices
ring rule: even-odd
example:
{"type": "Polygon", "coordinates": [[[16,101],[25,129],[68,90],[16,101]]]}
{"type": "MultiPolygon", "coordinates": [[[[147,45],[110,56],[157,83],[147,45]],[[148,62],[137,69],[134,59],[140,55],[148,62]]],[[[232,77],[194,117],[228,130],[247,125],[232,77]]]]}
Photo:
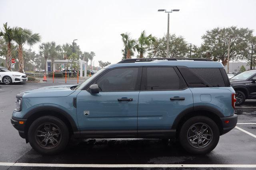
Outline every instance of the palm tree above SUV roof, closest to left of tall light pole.
{"type": "Polygon", "coordinates": [[[138,38],[138,44],[136,45],[136,49],[140,54],[140,58],[144,57],[144,53],[146,53],[146,49],[156,41],[156,38],[151,34],[146,36],[145,30],[142,31],[140,37],[138,38]]]}

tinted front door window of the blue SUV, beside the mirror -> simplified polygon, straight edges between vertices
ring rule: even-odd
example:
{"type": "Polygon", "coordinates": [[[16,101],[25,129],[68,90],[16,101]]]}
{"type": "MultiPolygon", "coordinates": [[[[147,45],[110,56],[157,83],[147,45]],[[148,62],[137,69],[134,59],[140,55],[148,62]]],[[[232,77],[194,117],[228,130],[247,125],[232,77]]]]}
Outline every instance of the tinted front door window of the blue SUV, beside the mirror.
{"type": "Polygon", "coordinates": [[[96,84],[100,91],[138,90],[138,68],[116,68],[101,76],[96,84]]]}

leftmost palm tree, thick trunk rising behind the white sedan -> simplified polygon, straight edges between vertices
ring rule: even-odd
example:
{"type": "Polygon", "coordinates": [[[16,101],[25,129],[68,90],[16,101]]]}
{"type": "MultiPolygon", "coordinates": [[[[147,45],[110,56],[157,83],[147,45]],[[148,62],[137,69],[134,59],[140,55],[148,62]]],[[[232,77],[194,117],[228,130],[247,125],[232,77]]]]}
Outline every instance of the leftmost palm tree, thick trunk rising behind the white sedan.
{"type": "Polygon", "coordinates": [[[11,53],[11,43],[13,40],[13,29],[7,26],[7,22],[4,24],[4,30],[0,31],[0,37],[3,36],[7,44],[7,56],[6,56],[6,65],[8,70],[11,70],[12,64],[12,53],[11,53]]]}

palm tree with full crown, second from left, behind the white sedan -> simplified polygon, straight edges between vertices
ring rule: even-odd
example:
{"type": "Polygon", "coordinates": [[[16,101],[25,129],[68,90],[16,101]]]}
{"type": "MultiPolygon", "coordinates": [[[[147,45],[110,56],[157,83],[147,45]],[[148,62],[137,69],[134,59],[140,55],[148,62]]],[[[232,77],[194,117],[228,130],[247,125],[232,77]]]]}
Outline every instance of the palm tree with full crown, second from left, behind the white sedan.
{"type": "Polygon", "coordinates": [[[41,36],[38,33],[32,33],[30,29],[15,27],[14,41],[18,44],[19,71],[24,72],[23,45],[34,45],[40,42],[41,36]]]}

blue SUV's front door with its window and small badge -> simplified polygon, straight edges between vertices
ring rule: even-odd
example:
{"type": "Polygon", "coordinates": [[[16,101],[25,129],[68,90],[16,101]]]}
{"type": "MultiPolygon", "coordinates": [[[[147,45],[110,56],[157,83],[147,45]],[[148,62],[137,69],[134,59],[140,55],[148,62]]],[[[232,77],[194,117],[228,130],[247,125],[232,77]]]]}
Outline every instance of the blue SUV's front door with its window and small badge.
{"type": "Polygon", "coordinates": [[[77,117],[86,137],[137,135],[138,96],[142,68],[114,68],[100,76],[99,93],[82,90],[77,96],[77,117]]]}

